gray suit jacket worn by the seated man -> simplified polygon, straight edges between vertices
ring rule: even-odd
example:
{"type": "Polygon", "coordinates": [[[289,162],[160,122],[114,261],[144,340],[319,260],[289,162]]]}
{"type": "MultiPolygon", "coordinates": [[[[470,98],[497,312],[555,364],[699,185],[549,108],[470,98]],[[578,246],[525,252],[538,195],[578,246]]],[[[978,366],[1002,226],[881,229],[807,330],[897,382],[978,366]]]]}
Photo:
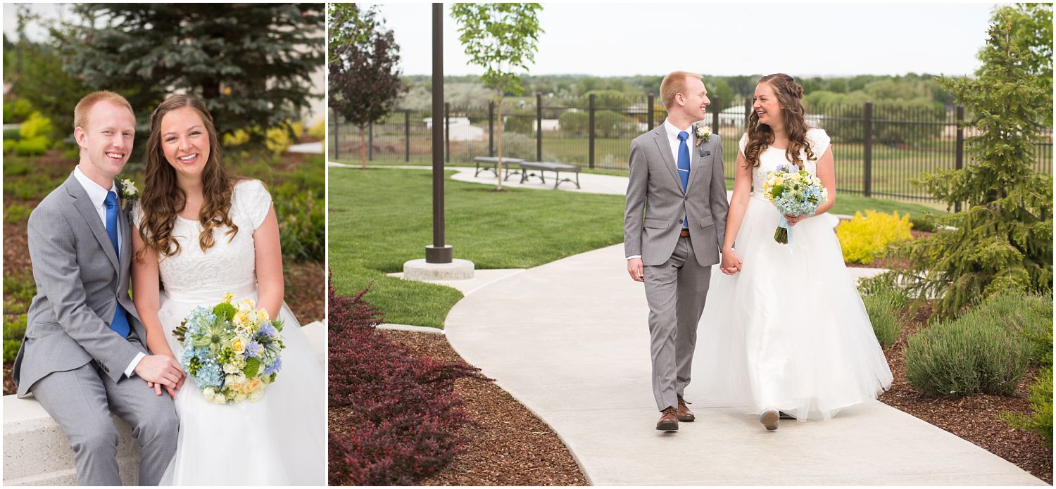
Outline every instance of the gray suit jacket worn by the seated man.
{"type": "Polygon", "coordinates": [[[137,353],[147,353],[140,340],[147,335],[128,293],[132,238],[124,210],[117,223],[120,260],[88,192],[73,174],[30,214],[37,295],[15,358],[19,397],[45,375],[92,360],[116,382],[137,353]],[[110,328],[118,301],[129,313],[128,338],[110,328]]]}

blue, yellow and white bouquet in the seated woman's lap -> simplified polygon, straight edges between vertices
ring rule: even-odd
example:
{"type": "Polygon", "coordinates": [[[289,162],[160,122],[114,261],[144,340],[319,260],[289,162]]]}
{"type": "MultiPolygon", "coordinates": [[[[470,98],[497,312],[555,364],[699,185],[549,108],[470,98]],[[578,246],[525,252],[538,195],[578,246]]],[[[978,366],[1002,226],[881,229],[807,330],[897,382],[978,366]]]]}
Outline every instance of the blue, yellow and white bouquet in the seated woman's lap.
{"type": "Polygon", "coordinates": [[[194,307],[172,331],[184,346],[180,363],[206,400],[219,405],[256,401],[282,369],[282,321],[254,309],[252,300],[231,304],[225,294],[212,309],[194,307]]]}

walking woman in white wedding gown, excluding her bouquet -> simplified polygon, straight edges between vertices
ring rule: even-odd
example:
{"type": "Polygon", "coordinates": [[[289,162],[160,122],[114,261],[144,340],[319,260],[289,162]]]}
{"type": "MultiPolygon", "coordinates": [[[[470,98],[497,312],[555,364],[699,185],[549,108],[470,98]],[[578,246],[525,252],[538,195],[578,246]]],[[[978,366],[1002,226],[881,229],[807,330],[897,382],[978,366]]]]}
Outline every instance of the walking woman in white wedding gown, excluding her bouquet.
{"type": "Polygon", "coordinates": [[[768,429],[781,417],[829,419],[875,398],[891,372],[825,214],[835,204],[832,149],[804,117],[803,87],[785,74],[759,79],[698,352],[709,403],[741,407],[768,429]],[[774,240],[777,209],[767,172],[796,165],[828,200],[813,215],[786,215],[789,244],[774,240]],[[754,187],[754,191],[753,191],[754,187]],[[823,215],[825,214],[825,215],[823,215]]]}

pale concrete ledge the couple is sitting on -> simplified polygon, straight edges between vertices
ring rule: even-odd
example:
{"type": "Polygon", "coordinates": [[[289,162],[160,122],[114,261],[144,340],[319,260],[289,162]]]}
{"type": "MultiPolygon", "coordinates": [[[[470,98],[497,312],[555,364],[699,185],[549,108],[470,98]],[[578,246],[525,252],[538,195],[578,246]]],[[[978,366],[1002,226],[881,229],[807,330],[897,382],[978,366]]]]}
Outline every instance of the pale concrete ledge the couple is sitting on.
{"type": "MultiPolygon", "coordinates": [[[[326,365],[325,319],[302,326],[315,350],[319,363],[326,365]]],[[[114,425],[120,443],[117,465],[121,482],[135,486],[139,473],[139,445],[132,438],[132,429],[119,417],[114,425]]],[[[58,424],[33,396],[19,399],[14,394],[3,396],[3,485],[4,486],[74,486],[73,449],[58,424]]]]}

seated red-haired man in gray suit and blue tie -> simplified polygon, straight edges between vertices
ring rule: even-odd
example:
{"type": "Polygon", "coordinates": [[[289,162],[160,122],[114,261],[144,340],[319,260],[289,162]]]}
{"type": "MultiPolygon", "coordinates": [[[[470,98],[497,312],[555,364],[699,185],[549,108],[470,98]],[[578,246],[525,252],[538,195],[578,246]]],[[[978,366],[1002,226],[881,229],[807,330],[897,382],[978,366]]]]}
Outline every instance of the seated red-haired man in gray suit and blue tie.
{"type": "Polygon", "coordinates": [[[156,486],[176,450],[171,396],[183,372],[148,353],[128,293],[132,238],[114,178],[132,152],[135,116],[125,97],[95,92],[77,104],[74,126],[80,162],[30,214],[37,295],[14,379],[18,397],[32,392],[62,427],[77,484],[121,484],[113,412],[139,443],[138,484],[156,486]]]}

